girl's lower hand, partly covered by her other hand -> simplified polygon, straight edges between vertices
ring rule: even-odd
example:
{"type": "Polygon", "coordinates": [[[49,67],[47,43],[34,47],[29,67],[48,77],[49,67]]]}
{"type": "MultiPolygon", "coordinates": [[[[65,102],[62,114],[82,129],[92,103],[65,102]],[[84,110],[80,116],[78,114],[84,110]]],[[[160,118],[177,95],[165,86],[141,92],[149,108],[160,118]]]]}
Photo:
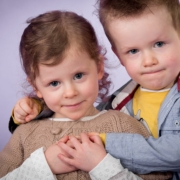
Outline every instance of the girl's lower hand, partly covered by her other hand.
{"type": "MultiPolygon", "coordinates": [[[[62,142],[65,143],[68,140],[68,137],[63,138],[62,142]]],[[[59,146],[56,144],[51,145],[46,151],[45,151],[45,157],[49,164],[49,167],[51,168],[51,171],[53,174],[62,174],[62,173],[68,173],[77,170],[77,168],[63,162],[58,158],[58,154],[63,154],[64,157],[70,158],[70,156],[62,151],[59,146]]]]}

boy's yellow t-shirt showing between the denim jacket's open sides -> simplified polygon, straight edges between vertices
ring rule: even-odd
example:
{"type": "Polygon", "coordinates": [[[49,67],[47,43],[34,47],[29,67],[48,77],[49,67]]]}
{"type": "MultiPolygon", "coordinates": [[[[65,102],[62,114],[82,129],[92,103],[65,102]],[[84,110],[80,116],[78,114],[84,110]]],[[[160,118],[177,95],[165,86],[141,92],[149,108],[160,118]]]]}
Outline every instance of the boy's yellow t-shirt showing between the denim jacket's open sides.
{"type": "Polygon", "coordinates": [[[150,91],[139,87],[133,97],[134,115],[146,121],[152,135],[158,137],[158,113],[162,102],[170,89],[150,91]],[[139,111],[139,112],[138,112],[139,111]]]}

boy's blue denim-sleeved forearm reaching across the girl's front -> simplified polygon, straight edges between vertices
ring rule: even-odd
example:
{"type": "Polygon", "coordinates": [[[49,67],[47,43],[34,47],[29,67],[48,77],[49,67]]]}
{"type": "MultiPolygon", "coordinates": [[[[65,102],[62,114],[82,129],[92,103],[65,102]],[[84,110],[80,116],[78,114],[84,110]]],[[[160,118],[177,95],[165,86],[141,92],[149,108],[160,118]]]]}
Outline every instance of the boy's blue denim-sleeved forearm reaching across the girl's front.
{"type": "Polygon", "coordinates": [[[123,167],[138,174],[180,172],[180,135],[145,139],[139,134],[108,133],[106,150],[121,159],[123,167]]]}

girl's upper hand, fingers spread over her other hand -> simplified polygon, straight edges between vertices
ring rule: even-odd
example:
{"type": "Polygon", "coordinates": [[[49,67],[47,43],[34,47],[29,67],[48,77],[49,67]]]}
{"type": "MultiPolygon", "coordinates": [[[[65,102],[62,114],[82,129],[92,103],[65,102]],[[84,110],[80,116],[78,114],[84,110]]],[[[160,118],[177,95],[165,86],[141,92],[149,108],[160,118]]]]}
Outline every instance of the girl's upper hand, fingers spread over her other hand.
{"type": "Polygon", "coordinates": [[[88,136],[81,134],[81,142],[76,137],[69,137],[71,143],[58,142],[58,146],[68,153],[72,158],[59,154],[59,158],[69,165],[75,166],[83,171],[91,171],[106,156],[103,143],[99,136],[88,136]]]}

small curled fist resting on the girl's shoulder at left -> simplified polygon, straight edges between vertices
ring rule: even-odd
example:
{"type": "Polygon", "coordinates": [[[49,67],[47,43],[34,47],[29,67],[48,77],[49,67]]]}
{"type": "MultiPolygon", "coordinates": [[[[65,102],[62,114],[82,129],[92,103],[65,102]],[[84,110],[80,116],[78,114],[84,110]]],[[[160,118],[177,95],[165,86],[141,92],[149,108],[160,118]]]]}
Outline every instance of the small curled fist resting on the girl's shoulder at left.
{"type": "Polygon", "coordinates": [[[33,99],[24,97],[16,103],[13,111],[15,123],[26,123],[39,114],[39,104],[33,99]]]}

